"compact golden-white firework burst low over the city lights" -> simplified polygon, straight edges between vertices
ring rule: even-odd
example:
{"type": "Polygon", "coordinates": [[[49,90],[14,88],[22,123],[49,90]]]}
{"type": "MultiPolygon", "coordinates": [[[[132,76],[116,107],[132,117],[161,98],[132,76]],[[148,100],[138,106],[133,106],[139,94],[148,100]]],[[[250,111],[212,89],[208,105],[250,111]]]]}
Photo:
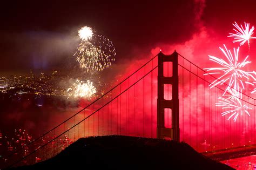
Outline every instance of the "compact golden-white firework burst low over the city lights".
{"type": "Polygon", "coordinates": [[[90,99],[93,94],[96,93],[96,88],[93,86],[90,80],[87,80],[86,83],[81,80],[76,80],[72,87],[68,90],[68,98],[87,98],[90,99]]]}

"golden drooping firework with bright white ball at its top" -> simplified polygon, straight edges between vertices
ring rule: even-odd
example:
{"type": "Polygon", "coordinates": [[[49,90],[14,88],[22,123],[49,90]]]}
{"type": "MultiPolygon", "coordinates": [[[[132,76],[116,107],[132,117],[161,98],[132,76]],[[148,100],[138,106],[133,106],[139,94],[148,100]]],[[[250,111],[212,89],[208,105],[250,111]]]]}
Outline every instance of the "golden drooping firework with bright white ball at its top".
{"type": "Polygon", "coordinates": [[[81,39],[74,56],[80,67],[89,71],[102,71],[114,62],[116,49],[111,40],[96,35],[91,28],[84,26],[78,31],[81,39]]]}

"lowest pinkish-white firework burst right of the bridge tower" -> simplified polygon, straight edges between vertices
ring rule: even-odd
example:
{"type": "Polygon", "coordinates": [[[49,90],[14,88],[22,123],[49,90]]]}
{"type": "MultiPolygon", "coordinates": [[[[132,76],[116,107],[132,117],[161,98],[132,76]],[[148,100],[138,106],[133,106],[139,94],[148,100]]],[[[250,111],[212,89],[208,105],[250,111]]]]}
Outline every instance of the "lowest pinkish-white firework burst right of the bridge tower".
{"type": "Polygon", "coordinates": [[[228,111],[225,111],[221,113],[222,116],[226,114],[230,114],[227,120],[230,120],[233,117],[233,120],[236,121],[239,114],[242,116],[243,113],[246,113],[250,116],[250,113],[248,110],[252,110],[251,107],[248,107],[246,104],[242,104],[242,93],[237,90],[230,90],[228,89],[228,95],[227,98],[218,97],[220,101],[216,103],[216,106],[221,106],[222,109],[226,109],[228,111]]]}

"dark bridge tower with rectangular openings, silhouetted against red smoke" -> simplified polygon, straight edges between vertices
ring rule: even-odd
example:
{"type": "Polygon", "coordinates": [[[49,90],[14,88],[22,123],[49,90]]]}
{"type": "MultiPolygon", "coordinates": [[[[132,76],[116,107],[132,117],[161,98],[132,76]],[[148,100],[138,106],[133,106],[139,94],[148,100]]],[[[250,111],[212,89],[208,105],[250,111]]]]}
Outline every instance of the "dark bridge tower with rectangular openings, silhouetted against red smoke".
{"type": "Polygon", "coordinates": [[[157,91],[157,138],[165,137],[179,141],[179,79],[178,79],[178,53],[172,55],[158,54],[158,91],[157,91]],[[164,77],[164,62],[172,62],[172,77],[164,77]],[[172,99],[164,99],[164,85],[172,85],[172,99]],[[165,127],[165,108],[172,111],[172,128],[165,127]]]}

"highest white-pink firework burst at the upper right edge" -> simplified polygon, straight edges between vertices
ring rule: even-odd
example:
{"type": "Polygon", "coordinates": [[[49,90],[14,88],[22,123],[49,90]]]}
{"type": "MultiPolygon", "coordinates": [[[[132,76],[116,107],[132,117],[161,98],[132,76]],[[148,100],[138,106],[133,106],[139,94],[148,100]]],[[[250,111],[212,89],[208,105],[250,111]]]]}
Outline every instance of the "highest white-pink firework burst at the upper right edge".
{"type": "Polygon", "coordinates": [[[254,26],[252,26],[252,28],[250,29],[250,23],[245,23],[245,29],[244,29],[242,25],[239,26],[236,22],[234,22],[233,25],[236,28],[236,29],[233,29],[235,33],[230,33],[230,36],[227,36],[227,37],[234,38],[233,43],[240,42],[240,46],[244,45],[245,42],[247,41],[248,46],[250,47],[249,39],[256,38],[256,37],[252,37],[254,26]]]}

